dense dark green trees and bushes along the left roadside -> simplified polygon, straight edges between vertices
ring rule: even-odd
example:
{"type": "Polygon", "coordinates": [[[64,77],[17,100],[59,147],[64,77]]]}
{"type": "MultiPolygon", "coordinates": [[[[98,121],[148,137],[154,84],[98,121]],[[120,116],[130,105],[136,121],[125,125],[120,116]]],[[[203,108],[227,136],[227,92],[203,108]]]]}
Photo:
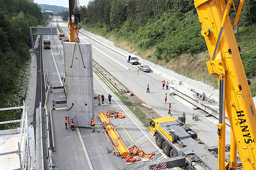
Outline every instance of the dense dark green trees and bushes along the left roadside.
{"type": "MultiPolygon", "coordinates": [[[[31,0],[0,0],[0,108],[22,106],[30,73],[30,26],[43,19],[31,0]]],[[[20,119],[22,110],[1,111],[0,121],[20,119]]],[[[17,124],[2,124],[0,130],[17,124]]]]}

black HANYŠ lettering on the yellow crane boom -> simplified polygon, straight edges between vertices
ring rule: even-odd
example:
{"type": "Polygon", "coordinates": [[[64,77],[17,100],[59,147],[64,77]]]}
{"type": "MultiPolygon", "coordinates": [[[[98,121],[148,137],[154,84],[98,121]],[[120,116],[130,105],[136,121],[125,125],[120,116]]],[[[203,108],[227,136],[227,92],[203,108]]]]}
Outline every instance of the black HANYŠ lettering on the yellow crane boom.
{"type": "Polygon", "coordinates": [[[252,136],[250,136],[249,129],[247,129],[248,125],[246,125],[247,124],[246,119],[239,118],[239,117],[245,116],[244,114],[241,114],[241,113],[243,113],[243,110],[236,112],[238,120],[239,120],[239,125],[243,125],[243,126],[240,126],[241,129],[242,129],[242,132],[246,133],[246,134],[243,134],[243,137],[248,138],[248,139],[244,139],[244,141],[245,141],[246,144],[255,143],[254,139],[252,139],[252,136]]]}

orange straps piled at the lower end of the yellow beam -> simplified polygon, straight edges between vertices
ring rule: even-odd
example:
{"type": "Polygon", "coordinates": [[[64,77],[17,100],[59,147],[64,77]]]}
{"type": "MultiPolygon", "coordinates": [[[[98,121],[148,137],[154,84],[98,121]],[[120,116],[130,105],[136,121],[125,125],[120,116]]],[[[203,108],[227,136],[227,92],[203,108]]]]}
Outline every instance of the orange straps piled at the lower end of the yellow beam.
{"type": "Polygon", "coordinates": [[[135,161],[140,161],[140,157],[144,157],[144,158],[147,158],[147,159],[152,159],[152,156],[155,155],[154,152],[151,152],[151,153],[145,153],[144,151],[142,151],[141,149],[137,148],[136,145],[133,145],[132,147],[128,148],[129,152],[133,155],[137,155],[135,157],[131,156],[131,155],[126,155],[126,156],[121,156],[122,158],[125,159],[126,162],[135,162],[135,161]],[[149,156],[147,156],[149,155],[149,156]]]}

